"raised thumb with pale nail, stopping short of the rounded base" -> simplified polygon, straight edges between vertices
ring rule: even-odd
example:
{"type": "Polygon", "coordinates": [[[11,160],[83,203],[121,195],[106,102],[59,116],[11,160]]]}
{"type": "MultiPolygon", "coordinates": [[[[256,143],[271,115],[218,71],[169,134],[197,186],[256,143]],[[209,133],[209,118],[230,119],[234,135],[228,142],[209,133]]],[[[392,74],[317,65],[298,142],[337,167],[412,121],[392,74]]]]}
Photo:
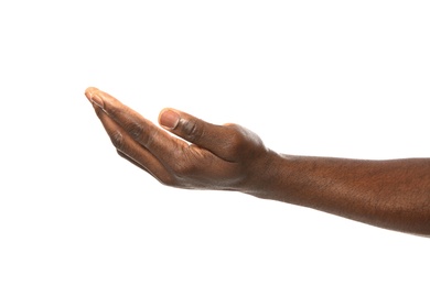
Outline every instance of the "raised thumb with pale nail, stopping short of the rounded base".
{"type": "Polygon", "coordinates": [[[216,125],[175,109],[163,109],[159,123],[175,135],[224,157],[225,142],[232,138],[232,129],[216,125]]]}

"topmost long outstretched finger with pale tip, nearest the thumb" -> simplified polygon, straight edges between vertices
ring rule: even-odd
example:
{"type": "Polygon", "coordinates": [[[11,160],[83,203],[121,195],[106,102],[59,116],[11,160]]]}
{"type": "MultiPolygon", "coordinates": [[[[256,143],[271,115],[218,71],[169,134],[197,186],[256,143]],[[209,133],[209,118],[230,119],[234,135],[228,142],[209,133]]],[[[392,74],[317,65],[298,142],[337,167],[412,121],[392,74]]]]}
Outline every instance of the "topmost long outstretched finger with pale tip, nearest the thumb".
{"type": "Polygon", "coordinates": [[[171,161],[172,152],[179,150],[181,146],[184,147],[187,145],[185,142],[172,138],[141,114],[122,105],[112,96],[97,88],[88,88],[85,91],[85,95],[92,102],[103,109],[105,113],[129,135],[129,138],[144,146],[164,163],[171,161]]]}

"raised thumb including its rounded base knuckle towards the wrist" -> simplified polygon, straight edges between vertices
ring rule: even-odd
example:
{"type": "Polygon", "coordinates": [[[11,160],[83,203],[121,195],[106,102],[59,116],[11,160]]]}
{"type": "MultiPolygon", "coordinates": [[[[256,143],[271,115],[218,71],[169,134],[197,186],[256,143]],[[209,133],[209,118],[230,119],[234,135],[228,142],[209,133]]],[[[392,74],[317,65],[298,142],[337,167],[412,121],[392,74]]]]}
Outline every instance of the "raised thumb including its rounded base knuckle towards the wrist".
{"type": "Polygon", "coordinates": [[[170,132],[226,161],[234,160],[246,136],[236,124],[216,125],[175,109],[163,109],[159,123],[170,132]]]}

